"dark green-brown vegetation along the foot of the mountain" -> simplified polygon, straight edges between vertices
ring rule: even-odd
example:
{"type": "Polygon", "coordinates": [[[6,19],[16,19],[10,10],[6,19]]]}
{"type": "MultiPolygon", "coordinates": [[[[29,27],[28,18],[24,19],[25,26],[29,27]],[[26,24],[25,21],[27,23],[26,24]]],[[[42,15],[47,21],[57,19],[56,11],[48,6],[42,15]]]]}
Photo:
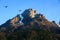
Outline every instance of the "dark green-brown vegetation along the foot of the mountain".
{"type": "Polygon", "coordinates": [[[60,40],[60,35],[33,28],[26,31],[1,32],[0,40],[60,40]]]}

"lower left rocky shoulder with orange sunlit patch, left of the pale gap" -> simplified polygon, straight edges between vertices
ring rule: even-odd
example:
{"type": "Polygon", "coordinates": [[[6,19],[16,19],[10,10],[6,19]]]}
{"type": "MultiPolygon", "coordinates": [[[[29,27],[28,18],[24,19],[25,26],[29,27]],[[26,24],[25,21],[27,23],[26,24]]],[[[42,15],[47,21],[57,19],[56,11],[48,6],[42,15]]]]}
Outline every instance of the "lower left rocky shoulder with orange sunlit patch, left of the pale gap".
{"type": "Polygon", "coordinates": [[[12,19],[9,19],[4,24],[1,25],[0,31],[11,31],[13,28],[18,28],[20,26],[20,15],[13,17],[12,19]]]}

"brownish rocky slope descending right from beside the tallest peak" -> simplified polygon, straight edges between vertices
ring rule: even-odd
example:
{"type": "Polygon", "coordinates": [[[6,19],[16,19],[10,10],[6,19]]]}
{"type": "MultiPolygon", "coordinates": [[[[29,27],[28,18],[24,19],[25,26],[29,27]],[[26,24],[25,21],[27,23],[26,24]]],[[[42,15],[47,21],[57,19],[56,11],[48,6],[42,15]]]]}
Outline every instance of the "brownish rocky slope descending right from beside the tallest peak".
{"type": "Polygon", "coordinates": [[[48,21],[42,14],[36,14],[36,16],[28,23],[30,26],[40,27],[40,29],[50,31],[50,28],[58,28],[56,23],[48,21]]]}

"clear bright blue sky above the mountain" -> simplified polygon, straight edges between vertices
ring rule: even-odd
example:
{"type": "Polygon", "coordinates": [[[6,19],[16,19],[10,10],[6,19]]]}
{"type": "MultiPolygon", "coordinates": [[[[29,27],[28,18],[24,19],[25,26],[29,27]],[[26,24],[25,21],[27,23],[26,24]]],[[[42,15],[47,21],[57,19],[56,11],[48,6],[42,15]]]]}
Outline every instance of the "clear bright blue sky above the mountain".
{"type": "Polygon", "coordinates": [[[42,13],[50,21],[60,20],[60,0],[0,0],[0,25],[27,8],[42,13]],[[19,10],[22,11],[19,13],[19,10]]]}

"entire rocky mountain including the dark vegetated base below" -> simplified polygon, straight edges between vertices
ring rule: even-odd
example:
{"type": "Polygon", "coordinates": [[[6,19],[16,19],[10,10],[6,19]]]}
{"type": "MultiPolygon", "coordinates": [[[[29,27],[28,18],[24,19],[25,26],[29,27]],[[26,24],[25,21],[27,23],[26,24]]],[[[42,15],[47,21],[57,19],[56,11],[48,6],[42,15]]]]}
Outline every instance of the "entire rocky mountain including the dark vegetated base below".
{"type": "Polygon", "coordinates": [[[0,40],[60,40],[60,27],[29,8],[0,25],[0,40]],[[20,23],[21,22],[21,23],[20,23]]]}

